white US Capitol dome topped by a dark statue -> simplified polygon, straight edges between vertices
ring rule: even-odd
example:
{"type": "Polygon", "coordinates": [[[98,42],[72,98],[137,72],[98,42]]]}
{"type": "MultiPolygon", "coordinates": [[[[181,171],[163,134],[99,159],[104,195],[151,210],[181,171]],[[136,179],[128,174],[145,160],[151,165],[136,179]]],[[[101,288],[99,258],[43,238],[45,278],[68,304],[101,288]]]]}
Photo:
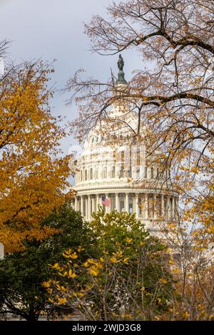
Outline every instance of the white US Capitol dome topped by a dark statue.
{"type": "MultiPolygon", "coordinates": [[[[128,86],[123,65],[120,55],[118,92],[128,86]]],[[[136,219],[156,234],[158,222],[177,220],[178,193],[168,185],[169,171],[163,170],[158,161],[158,150],[148,155],[148,144],[138,143],[131,136],[130,129],[137,123],[136,113],[128,110],[123,100],[116,99],[108,120],[88,133],[76,172],[73,206],[88,221],[99,206],[105,212],[135,213],[136,219]]]]}

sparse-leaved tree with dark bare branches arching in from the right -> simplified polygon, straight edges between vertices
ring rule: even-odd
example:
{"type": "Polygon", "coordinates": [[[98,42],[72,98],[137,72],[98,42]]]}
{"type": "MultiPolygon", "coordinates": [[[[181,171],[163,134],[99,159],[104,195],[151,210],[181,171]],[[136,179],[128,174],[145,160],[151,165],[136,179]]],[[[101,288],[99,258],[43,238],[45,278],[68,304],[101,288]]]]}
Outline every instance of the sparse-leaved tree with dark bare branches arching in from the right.
{"type": "MultiPolygon", "coordinates": [[[[73,123],[81,125],[78,138],[103,123],[108,123],[106,138],[116,127],[128,129],[129,139],[146,143],[147,157],[158,150],[158,159],[170,171],[168,183],[180,192],[178,222],[168,222],[171,237],[180,243],[181,298],[173,314],[180,319],[213,317],[213,267],[210,260],[204,262],[213,241],[213,5],[201,0],[113,3],[106,18],[93,16],[86,24],[93,51],[113,55],[136,50],[142,69],[135,71],[126,88],[113,76],[103,83],[83,80],[80,72],[66,86],[81,110],[73,123]],[[134,128],[108,113],[122,100],[126,116],[136,115],[134,128]],[[200,294],[196,299],[190,292],[200,294]]],[[[143,182],[139,178],[139,185],[143,182]]]]}

